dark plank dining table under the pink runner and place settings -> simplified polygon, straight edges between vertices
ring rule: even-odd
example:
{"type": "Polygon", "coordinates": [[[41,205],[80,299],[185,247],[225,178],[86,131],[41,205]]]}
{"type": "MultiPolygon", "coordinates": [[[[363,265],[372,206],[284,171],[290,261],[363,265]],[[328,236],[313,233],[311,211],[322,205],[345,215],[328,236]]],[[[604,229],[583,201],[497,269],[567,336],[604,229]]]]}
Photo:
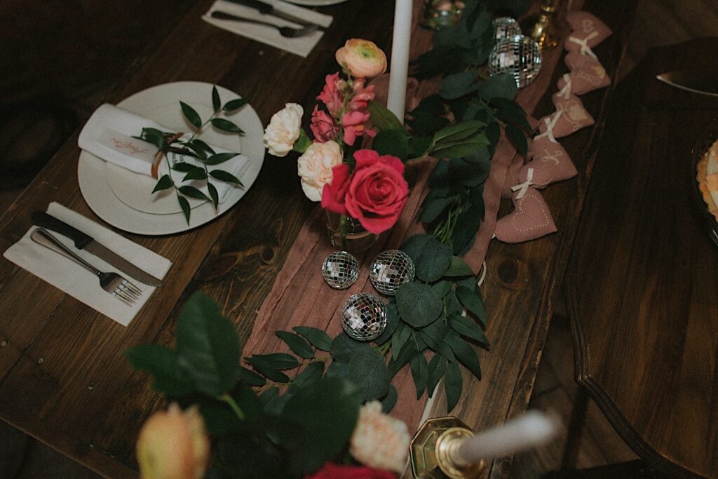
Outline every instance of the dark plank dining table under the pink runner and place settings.
{"type": "MultiPolygon", "coordinates": [[[[416,0],[417,4],[421,3],[416,0]]],[[[116,103],[151,85],[175,80],[217,83],[250,98],[263,124],[287,101],[312,106],[326,73],[336,70],[334,51],[349,37],[373,39],[388,51],[393,2],[354,0],[323,9],[335,24],[307,59],[289,55],[202,22],[210,6],[190,6],[103,101],[116,103]]],[[[615,73],[635,4],[585,2],[615,34],[596,52],[615,73]]],[[[158,19],[161,21],[161,19],[158,19]]],[[[554,80],[565,73],[559,65],[554,80]]],[[[518,246],[495,244],[487,259],[485,294],[490,353],[481,353],[484,378],[465,374],[456,414],[476,429],[501,424],[528,406],[549,319],[572,246],[588,185],[603,112],[613,87],[582,97],[597,120],[593,129],[561,140],[579,178],[544,192],[559,233],[518,246]],[[585,145],[589,145],[586,147],[585,145]]],[[[549,88],[535,111],[551,113],[549,88]]],[[[85,204],[75,174],[77,134],[56,154],[0,219],[4,250],[27,231],[29,213],[50,201],[96,218],[85,204]]],[[[102,475],[136,475],[134,442],[144,419],[164,406],[151,379],[131,371],[122,357],[139,343],[169,344],[185,299],[203,289],[223,305],[246,339],[258,307],[271,288],[297,231],[314,208],[304,200],[294,162],[266,157],[256,184],[233,210],[187,233],[124,236],[170,259],[162,289],[121,327],[8,261],[0,261],[0,417],[102,475]],[[261,208],[258,207],[261,205],[261,208]]],[[[506,213],[505,211],[502,212],[506,213]]],[[[399,406],[401,407],[401,406],[399,406]]],[[[429,411],[446,413],[443,395],[429,411]]],[[[510,457],[495,460],[492,475],[508,474],[510,457]]]]}

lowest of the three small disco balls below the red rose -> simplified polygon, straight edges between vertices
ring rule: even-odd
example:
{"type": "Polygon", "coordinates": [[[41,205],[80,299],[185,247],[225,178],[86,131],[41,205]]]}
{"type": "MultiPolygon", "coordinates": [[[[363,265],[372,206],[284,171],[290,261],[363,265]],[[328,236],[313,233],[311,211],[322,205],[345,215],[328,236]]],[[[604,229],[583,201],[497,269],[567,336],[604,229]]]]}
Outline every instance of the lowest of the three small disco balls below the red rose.
{"type": "Polygon", "coordinates": [[[376,294],[352,294],[342,308],[342,327],[358,341],[378,338],[386,329],[386,304],[376,294]]]}

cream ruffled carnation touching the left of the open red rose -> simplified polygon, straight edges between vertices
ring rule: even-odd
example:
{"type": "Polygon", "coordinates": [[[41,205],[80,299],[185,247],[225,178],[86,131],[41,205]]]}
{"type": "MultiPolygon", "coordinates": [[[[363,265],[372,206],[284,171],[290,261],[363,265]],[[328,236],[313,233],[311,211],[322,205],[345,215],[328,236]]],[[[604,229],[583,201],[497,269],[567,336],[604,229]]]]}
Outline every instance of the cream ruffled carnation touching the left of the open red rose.
{"type": "Polygon", "coordinates": [[[309,200],[322,199],[324,185],[332,182],[332,168],[342,163],[342,150],[336,141],[314,142],[297,159],[297,172],[302,177],[302,190],[309,200]]]}

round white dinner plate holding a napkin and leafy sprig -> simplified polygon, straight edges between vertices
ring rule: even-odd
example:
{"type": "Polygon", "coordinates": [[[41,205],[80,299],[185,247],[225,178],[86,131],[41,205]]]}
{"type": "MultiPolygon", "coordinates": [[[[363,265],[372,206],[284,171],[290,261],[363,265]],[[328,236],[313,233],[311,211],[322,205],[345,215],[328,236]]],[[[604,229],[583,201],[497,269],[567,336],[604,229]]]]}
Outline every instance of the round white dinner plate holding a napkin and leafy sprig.
{"type": "MultiPolygon", "coordinates": [[[[222,103],[239,98],[226,88],[217,87],[222,103]]],[[[175,131],[190,131],[182,115],[180,101],[190,104],[202,119],[211,115],[212,85],[202,82],[176,82],[157,85],[135,93],[117,106],[137,113],[175,131]]],[[[210,202],[190,200],[190,224],[177,204],[174,194],[152,195],[155,180],[116,167],[88,152],[80,152],[78,182],[80,192],[95,214],[116,228],[131,233],[163,235],[179,233],[208,223],[229,210],[245,195],[259,175],[264,162],[264,129],[251,106],[243,106],[225,118],[244,130],[244,136],[228,134],[213,127],[202,131],[199,138],[209,144],[241,152],[249,159],[240,179],[244,188],[232,187],[217,210],[210,202]],[[121,199],[122,198],[122,199],[121,199]],[[129,203],[129,204],[128,204],[129,203]]],[[[141,133],[138,131],[138,134],[141,133]]]]}

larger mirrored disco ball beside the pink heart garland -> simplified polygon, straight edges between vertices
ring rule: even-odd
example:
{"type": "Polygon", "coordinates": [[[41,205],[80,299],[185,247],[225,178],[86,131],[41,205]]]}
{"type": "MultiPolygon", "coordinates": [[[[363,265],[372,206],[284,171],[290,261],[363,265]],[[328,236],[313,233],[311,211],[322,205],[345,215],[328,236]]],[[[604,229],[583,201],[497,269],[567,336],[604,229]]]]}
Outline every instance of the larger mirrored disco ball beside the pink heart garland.
{"type": "Polygon", "coordinates": [[[523,35],[500,40],[489,55],[489,75],[510,73],[518,88],[536,80],[540,70],[541,50],[538,43],[523,35]]]}

